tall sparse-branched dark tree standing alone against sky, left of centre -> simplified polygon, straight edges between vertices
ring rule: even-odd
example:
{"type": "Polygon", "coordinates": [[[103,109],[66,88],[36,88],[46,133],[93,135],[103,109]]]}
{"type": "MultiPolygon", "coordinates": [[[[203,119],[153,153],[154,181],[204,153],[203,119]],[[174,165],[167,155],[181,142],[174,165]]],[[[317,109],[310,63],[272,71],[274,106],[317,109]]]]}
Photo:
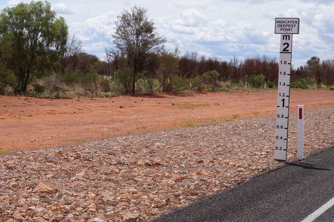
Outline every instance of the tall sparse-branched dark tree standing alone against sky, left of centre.
{"type": "Polygon", "coordinates": [[[125,56],[132,69],[132,93],[140,78],[149,75],[145,73],[152,65],[157,65],[156,55],[163,51],[165,39],[155,31],[154,22],[149,21],[147,9],[131,8],[131,12],[124,10],[118,15],[114,43],[125,56]]]}

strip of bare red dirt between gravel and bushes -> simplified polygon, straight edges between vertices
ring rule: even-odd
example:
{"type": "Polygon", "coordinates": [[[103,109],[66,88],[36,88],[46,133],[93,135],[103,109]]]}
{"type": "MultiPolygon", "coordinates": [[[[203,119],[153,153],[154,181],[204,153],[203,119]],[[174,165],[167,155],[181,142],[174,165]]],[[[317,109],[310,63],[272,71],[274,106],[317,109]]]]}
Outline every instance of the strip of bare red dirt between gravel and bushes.
{"type": "MultiPolygon", "coordinates": [[[[276,101],[276,90],[63,100],[0,96],[0,151],[272,115],[276,101]]],[[[290,112],[299,104],[306,109],[334,105],[334,91],[291,90],[290,112]]]]}

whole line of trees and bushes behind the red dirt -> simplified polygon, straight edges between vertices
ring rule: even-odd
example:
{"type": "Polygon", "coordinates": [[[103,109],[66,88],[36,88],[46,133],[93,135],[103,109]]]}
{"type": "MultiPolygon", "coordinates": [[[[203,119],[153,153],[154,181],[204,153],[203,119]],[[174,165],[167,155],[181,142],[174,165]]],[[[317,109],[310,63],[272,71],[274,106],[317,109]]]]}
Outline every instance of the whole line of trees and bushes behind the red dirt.
{"type": "MultiPolygon", "coordinates": [[[[113,48],[105,58],[83,51],[82,41],[68,36],[63,17],[48,2],[20,3],[0,14],[0,93],[59,93],[71,88],[83,93],[122,94],[154,91],[215,91],[228,87],[275,87],[276,58],[252,57],[224,61],[197,52],[180,55],[166,50],[147,9],[133,7],[117,16],[113,48]],[[225,83],[225,84],[224,84],[225,83]],[[228,83],[228,84],[226,84],[228,83]]],[[[312,57],[291,71],[291,86],[330,87],[334,60],[312,57]]]]}

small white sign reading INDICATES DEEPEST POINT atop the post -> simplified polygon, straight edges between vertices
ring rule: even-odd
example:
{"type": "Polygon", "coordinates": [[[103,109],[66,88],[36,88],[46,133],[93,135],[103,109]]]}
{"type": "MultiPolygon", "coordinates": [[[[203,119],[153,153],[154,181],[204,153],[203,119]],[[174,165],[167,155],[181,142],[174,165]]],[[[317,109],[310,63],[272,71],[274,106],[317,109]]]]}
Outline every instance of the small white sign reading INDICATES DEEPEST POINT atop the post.
{"type": "Polygon", "coordinates": [[[275,18],[276,34],[299,34],[299,18],[275,18]]]}

